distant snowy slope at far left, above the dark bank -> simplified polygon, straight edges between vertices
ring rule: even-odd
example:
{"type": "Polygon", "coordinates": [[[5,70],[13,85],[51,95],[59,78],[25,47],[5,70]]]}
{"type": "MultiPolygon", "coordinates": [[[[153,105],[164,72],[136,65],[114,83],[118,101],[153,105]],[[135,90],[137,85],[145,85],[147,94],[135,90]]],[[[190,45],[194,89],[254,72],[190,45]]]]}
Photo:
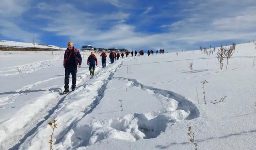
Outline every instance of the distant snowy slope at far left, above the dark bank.
{"type": "Polygon", "coordinates": [[[33,43],[24,43],[24,42],[14,42],[14,41],[6,41],[0,40],[0,46],[8,46],[8,47],[18,47],[18,48],[45,48],[45,49],[56,49],[56,50],[65,50],[66,48],[60,48],[54,45],[45,45],[45,44],[37,44],[33,43]]]}

